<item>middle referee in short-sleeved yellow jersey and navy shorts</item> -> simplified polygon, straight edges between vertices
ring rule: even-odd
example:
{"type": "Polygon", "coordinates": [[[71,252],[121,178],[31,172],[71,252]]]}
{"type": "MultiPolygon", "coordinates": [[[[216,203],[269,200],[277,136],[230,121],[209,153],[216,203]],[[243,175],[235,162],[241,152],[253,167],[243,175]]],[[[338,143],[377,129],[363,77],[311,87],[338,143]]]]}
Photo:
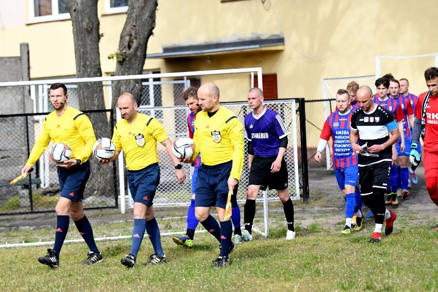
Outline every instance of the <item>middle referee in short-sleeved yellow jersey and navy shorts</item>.
{"type": "Polygon", "coordinates": [[[127,268],[136,265],[138,250],[145,231],[148,232],[154,253],[143,265],[165,263],[166,254],[161,247],[160,229],[152,206],[155,190],[160,182],[157,141],[166,147],[180,184],[186,179],[186,175],[178,159],[172,153],[172,142],[160,122],[151,116],[138,113],[137,102],[130,93],[120,95],[117,106],[122,119],[114,127],[112,140],[116,145],[116,153],[113,158],[100,160],[100,162],[108,163],[115,160],[123,149],[127,182],[134,199],[134,228],[131,251],[121,259],[121,263],[127,268]]]}

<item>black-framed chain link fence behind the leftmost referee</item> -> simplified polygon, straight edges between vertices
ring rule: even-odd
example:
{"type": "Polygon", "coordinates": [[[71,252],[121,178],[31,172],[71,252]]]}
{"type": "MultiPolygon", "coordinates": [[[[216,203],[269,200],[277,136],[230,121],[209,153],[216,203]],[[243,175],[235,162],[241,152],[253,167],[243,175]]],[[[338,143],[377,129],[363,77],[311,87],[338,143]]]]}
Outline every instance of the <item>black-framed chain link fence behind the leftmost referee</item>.
{"type": "MultiPolygon", "coordinates": [[[[102,122],[108,125],[108,129],[114,126],[111,110],[84,113],[90,119],[104,113],[107,120],[102,122]]],[[[52,142],[33,166],[33,172],[15,186],[9,184],[20,175],[47,114],[0,116],[0,129],[3,129],[0,132],[0,214],[53,211],[58,202],[58,166],[49,158],[52,142]]],[[[102,166],[93,157],[89,161],[91,174],[84,192],[84,206],[86,209],[117,207],[115,162],[102,166]]]]}

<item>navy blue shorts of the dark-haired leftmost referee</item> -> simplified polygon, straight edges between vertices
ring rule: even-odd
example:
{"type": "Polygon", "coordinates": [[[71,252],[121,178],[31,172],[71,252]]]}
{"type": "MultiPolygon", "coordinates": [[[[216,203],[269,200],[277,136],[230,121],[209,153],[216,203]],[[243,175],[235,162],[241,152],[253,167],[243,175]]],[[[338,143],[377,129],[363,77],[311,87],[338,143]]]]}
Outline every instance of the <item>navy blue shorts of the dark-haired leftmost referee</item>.
{"type": "Polygon", "coordinates": [[[82,202],[84,199],[85,185],[87,184],[89,176],[89,161],[85,161],[80,166],[74,166],[69,169],[58,167],[61,197],[72,200],[73,202],[82,202]]]}

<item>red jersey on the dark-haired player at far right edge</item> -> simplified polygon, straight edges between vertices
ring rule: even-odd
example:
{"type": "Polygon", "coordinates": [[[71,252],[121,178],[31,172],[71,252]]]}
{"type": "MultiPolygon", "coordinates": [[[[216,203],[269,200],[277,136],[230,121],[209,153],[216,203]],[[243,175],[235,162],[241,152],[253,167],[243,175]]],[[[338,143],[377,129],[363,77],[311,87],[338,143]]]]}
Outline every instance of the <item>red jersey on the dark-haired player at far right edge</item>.
{"type": "MultiPolygon", "coordinates": [[[[415,118],[422,120],[422,108],[427,92],[418,96],[417,106],[415,107],[415,118]]],[[[438,151],[438,96],[430,96],[426,108],[424,136],[424,150],[430,152],[438,151]]]]}

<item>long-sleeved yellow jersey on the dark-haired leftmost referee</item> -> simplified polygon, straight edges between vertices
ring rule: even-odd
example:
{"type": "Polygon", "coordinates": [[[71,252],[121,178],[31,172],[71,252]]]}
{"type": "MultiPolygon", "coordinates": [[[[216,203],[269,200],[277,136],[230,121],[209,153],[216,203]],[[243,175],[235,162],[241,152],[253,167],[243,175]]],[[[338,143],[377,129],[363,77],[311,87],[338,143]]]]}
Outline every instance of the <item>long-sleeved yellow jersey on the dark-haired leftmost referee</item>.
{"type": "Polygon", "coordinates": [[[93,125],[88,117],[74,107],[67,106],[61,117],[51,112],[43,121],[43,129],[33,145],[27,166],[32,166],[50,143],[63,142],[71,148],[71,158],[85,162],[93,152],[96,142],[93,125]]]}

